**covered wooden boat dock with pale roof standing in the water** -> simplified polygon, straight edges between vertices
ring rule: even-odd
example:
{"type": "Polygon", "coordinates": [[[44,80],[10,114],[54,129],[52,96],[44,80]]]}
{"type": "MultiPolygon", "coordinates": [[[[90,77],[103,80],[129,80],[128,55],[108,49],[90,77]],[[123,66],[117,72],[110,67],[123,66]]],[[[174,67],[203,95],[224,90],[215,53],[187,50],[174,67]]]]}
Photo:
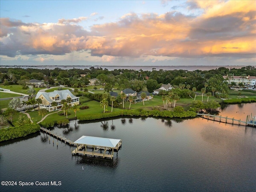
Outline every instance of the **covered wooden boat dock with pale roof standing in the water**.
{"type": "Polygon", "coordinates": [[[72,154],[100,156],[112,159],[114,156],[114,150],[119,150],[122,145],[122,140],[82,136],[76,140],[74,144],[76,144],[76,149],[72,151],[72,154]],[[106,154],[106,152],[108,153],[106,154]]]}

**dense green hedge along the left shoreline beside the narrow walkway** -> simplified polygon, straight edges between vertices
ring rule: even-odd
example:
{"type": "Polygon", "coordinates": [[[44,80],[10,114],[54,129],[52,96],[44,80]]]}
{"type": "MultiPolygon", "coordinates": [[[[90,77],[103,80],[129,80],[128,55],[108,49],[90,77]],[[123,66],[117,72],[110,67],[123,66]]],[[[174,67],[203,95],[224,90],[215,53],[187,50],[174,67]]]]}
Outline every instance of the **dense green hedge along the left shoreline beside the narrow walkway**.
{"type": "Polygon", "coordinates": [[[24,137],[28,134],[35,133],[40,130],[38,124],[26,124],[23,126],[9,127],[6,129],[0,129],[0,142],[6,141],[18,137],[24,137]]]}

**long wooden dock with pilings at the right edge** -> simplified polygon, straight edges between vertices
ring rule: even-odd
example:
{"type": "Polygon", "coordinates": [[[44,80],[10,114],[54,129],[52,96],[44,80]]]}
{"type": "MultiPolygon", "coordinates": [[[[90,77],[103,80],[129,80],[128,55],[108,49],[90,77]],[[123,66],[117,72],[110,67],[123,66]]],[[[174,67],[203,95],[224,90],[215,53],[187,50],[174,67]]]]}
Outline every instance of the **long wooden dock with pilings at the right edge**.
{"type": "Polygon", "coordinates": [[[242,124],[244,126],[256,126],[256,120],[253,118],[253,120],[249,120],[250,116],[247,116],[246,121],[242,121],[241,119],[235,119],[235,118],[228,118],[228,116],[226,117],[222,117],[217,116],[217,115],[211,115],[211,114],[204,114],[204,113],[198,113],[197,115],[202,116],[202,118],[208,119],[208,120],[213,120],[213,121],[218,121],[218,122],[222,122],[222,123],[229,123],[229,124],[238,124],[239,126],[242,124]]]}

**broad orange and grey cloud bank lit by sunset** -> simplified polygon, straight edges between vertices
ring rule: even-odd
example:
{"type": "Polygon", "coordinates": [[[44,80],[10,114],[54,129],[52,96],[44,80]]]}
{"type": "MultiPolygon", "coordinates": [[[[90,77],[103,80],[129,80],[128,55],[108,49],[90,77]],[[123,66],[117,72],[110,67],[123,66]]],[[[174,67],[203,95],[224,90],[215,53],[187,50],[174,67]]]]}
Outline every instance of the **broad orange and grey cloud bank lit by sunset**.
{"type": "Polygon", "coordinates": [[[64,56],[85,51],[86,56],[103,62],[121,58],[150,58],[152,62],[163,58],[255,58],[255,6],[247,1],[188,1],[186,6],[203,10],[202,14],[130,12],[117,22],[95,24],[90,31],[79,25],[86,17],[44,24],[1,18],[1,55],[64,56]],[[217,8],[221,10],[218,14],[214,12],[217,8]]]}

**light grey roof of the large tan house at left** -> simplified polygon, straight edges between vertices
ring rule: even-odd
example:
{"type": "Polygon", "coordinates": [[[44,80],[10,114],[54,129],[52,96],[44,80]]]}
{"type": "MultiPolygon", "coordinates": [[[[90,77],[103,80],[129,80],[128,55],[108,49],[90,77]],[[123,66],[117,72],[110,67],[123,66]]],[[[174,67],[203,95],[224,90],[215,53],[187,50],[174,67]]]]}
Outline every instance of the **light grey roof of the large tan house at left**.
{"type": "Polygon", "coordinates": [[[54,102],[54,100],[52,100],[52,97],[56,97],[57,95],[60,96],[60,100],[62,99],[66,99],[68,95],[70,95],[71,99],[75,99],[78,98],[76,96],[74,96],[70,90],[66,89],[66,90],[54,90],[53,92],[38,92],[36,94],[36,99],[39,98],[41,95],[44,96],[44,98],[48,101],[48,102],[54,102]]]}

